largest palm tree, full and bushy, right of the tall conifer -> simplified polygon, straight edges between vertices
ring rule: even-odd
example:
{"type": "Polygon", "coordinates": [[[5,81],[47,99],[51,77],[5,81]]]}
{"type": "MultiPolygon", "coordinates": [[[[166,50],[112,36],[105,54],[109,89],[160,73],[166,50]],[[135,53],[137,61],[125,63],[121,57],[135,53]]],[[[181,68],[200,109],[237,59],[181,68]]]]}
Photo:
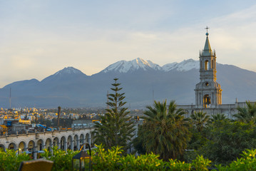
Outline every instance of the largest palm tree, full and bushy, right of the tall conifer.
{"type": "Polygon", "coordinates": [[[143,124],[143,146],[147,152],[159,154],[163,160],[182,155],[190,140],[190,123],[185,119],[185,111],[177,109],[175,101],[170,105],[154,102],[147,106],[143,124]]]}

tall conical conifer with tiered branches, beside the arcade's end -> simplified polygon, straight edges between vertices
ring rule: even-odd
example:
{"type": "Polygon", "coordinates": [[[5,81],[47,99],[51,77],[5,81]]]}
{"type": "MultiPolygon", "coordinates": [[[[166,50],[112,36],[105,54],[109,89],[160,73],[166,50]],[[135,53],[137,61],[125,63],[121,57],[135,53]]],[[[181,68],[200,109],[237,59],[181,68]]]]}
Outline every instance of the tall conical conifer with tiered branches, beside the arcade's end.
{"type": "Polygon", "coordinates": [[[135,129],[131,117],[128,116],[128,108],[123,108],[126,102],[123,102],[125,93],[119,93],[122,90],[119,88],[121,83],[117,83],[118,78],[114,81],[111,88],[113,93],[109,94],[107,103],[111,108],[106,109],[105,115],[101,116],[101,123],[96,123],[93,133],[96,133],[95,143],[98,145],[102,144],[107,148],[120,145],[126,149],[135,129]]]}

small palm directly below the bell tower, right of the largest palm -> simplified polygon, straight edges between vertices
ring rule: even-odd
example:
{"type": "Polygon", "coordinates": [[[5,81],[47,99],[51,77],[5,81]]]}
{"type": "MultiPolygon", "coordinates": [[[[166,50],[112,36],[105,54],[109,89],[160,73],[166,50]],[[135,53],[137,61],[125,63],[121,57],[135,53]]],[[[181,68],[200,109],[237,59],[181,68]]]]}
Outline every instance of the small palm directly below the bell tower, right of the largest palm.
{"type": "Polygon", "coordinates": [[[195,129],[198,130],[198,132],[201,132],[205,125],[208,123],[210,116],[207,115],[207,113],[203,113],[203,111],[200,111],[192,113],[190,115],[190,118],[192,119],[192,123],[195,126],[195,129]]]}

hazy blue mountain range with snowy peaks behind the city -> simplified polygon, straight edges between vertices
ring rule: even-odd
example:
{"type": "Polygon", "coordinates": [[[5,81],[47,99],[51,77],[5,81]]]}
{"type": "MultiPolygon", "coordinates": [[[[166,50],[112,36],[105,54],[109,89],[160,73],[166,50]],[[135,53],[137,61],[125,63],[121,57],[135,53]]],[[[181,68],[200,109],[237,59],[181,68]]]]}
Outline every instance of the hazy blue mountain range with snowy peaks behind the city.
{"type": "MultiPolygon", "coordinates": [[[[195,103],[195,84],[199,79],[199,61],[193,59],[159,66],[136,58],[118,61],[103,71],[87,76],[67,67],[42,81],[16,81],[0,89],[0,106],[9,108],[80,108],[105,107],[113,78],[126,93],[130,108],[145,108],[153,100],[175,100],[179,105],[195,103]]],[[[231,65],[217,63],[217,82],[222,86],[222,103],[256,100],[256,73],[231,65]]]]}

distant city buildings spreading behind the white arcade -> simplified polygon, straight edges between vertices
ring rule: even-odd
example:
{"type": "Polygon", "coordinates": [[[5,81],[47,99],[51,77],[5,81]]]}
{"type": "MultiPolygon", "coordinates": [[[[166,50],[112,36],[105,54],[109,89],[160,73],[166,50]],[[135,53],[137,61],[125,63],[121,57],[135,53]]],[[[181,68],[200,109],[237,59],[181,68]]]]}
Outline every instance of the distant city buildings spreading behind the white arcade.
{"type": "MultiPolygon", "coordinates": [[[[61,110],[59,128],[76,128],[78,120],[85,121],[84,127],[92,126],[93,122],[99,120],[99,115],[103,115],[103,108],[66,108],[61,110]]],[[[131,110],[130,115],[140,116],[143,110],[131,110]]],[[[57,130],[58,109],[40,108],[12,108],[0,110],[0,135],[34,133],[36,130],[52,131],[57,130]]],[[[83,123],[83,122],[81,122],[83,123]]]]}

